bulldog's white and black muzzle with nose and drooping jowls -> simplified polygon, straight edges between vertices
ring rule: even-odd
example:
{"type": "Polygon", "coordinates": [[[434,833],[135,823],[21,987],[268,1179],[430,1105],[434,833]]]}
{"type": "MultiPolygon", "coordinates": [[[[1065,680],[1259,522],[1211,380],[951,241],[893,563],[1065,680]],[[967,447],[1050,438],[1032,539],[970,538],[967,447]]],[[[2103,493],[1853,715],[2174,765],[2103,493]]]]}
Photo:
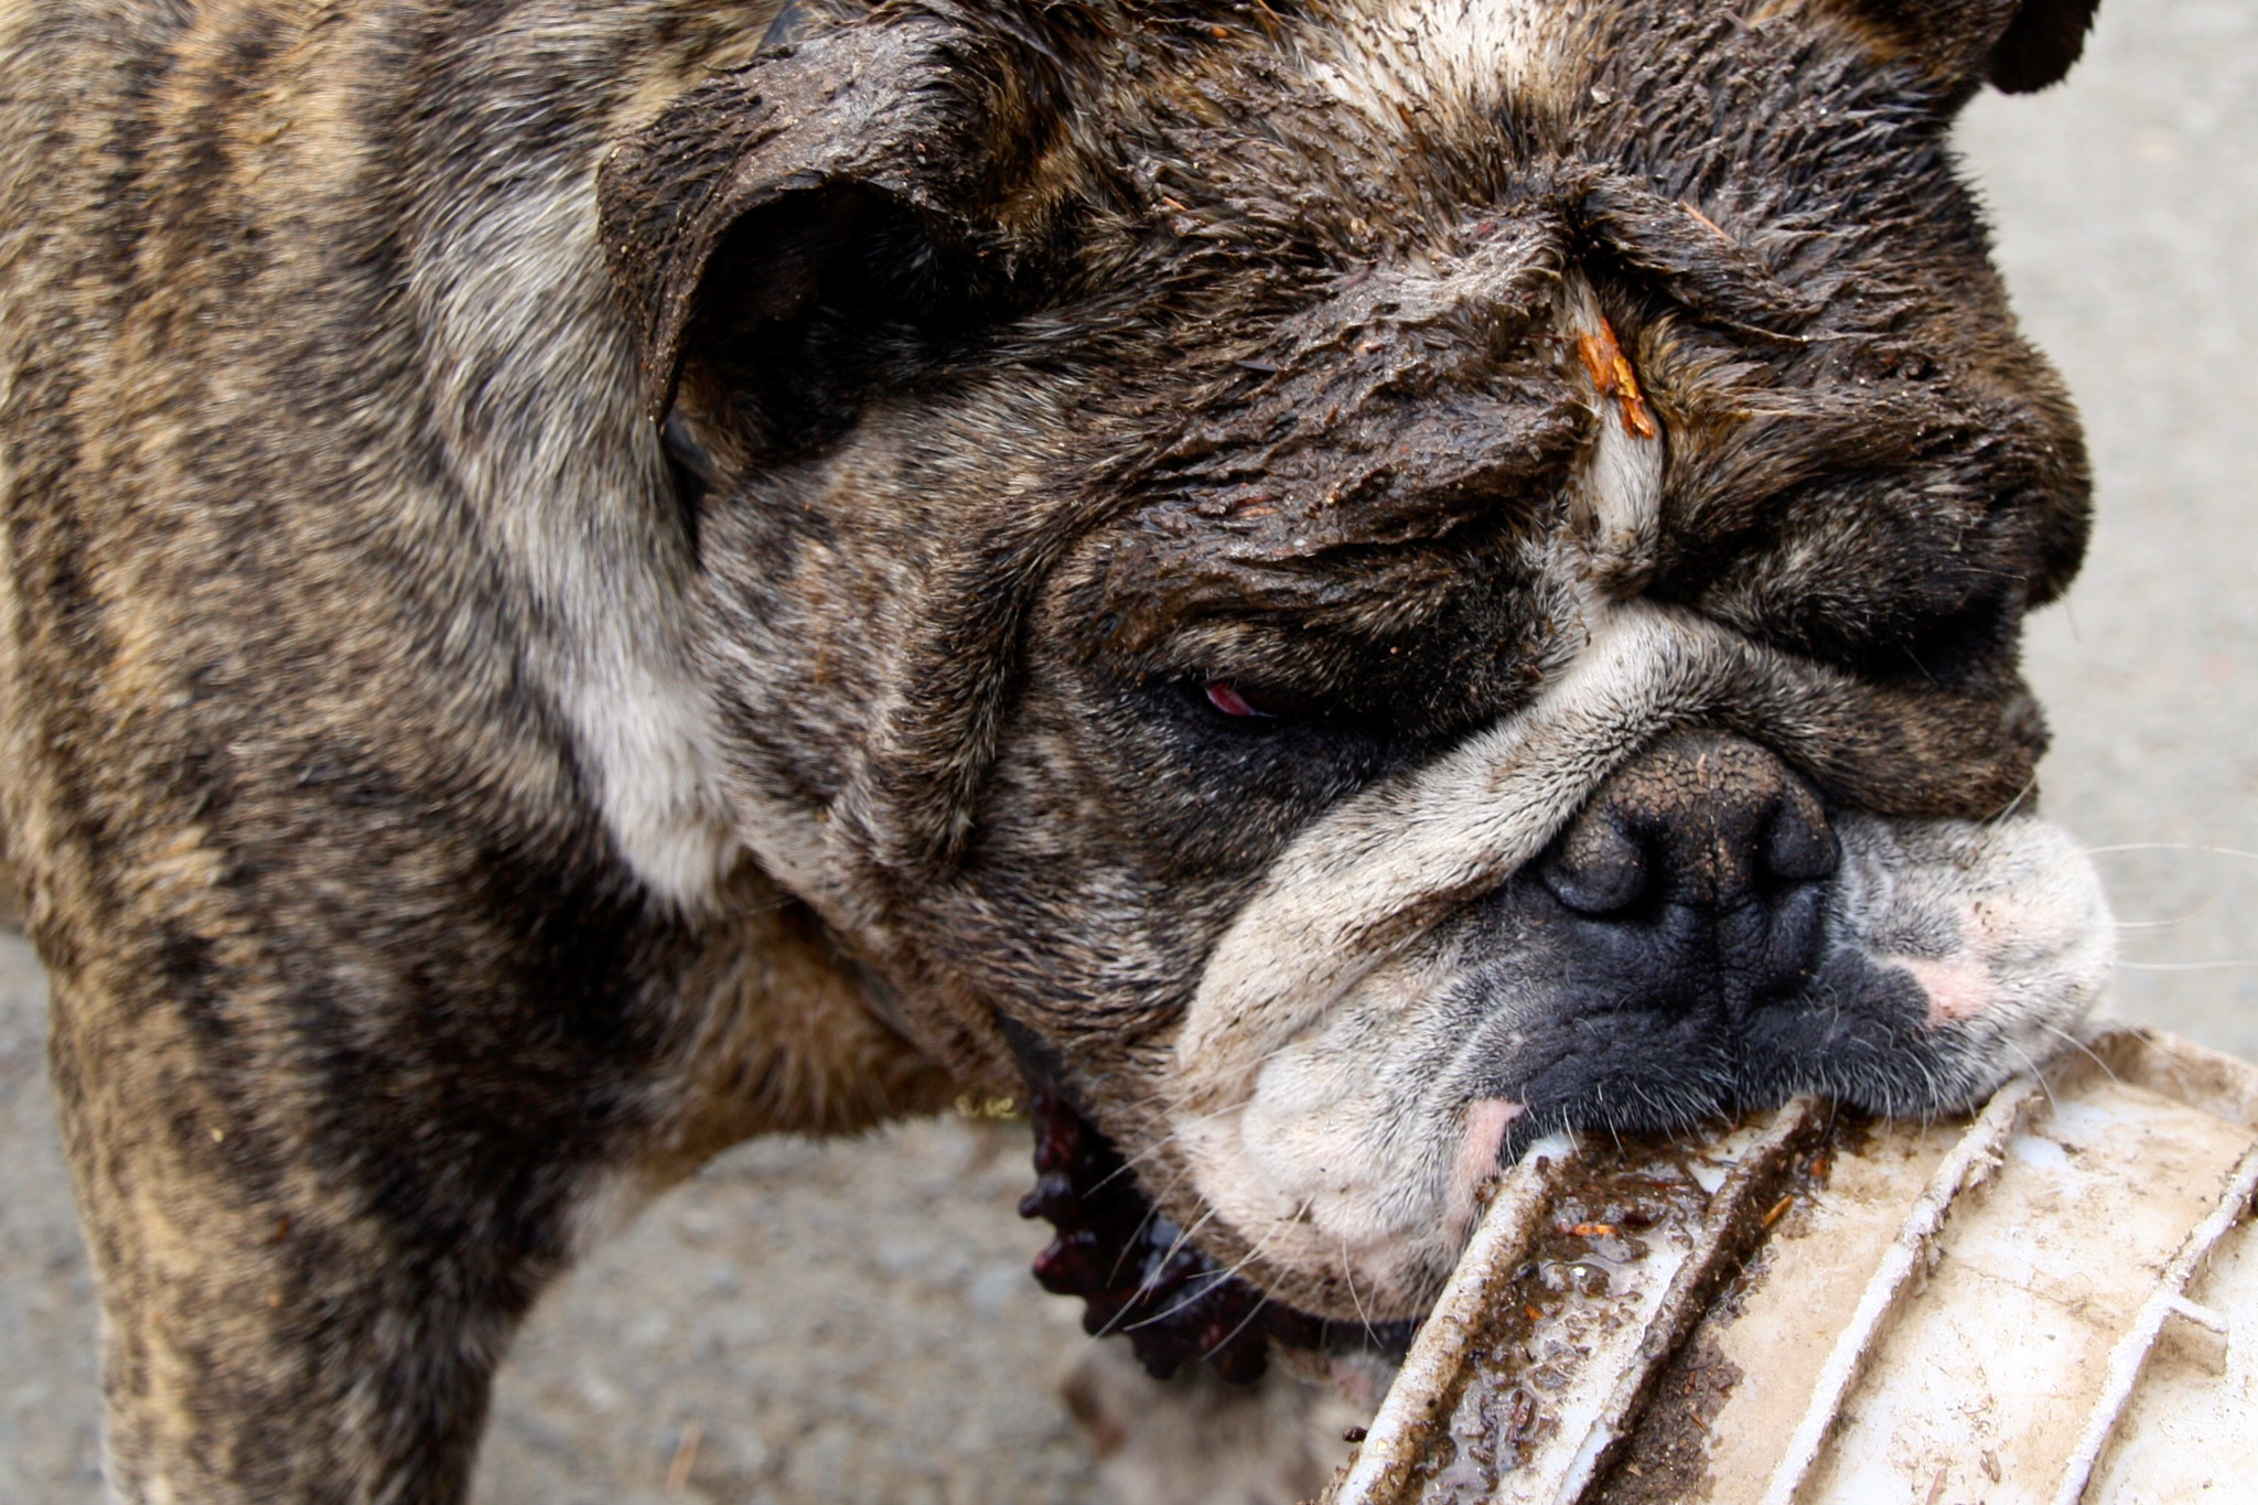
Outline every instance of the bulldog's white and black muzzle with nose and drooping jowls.
{"type": "Polygon", "coordinates": [[[2010,711],[1892,731],[1926,709],[1610,607],[1531,711],[1346,801],[1240,912],[1176,1036],[1179,1221],[1285,1300],[1395,1318],[1542,1133],[1937,1110],[2037,1063],[2111,925],[2019,799],[2010,711]],[[1890,812],[1946,774],[1980,801],[1890,812]]]}

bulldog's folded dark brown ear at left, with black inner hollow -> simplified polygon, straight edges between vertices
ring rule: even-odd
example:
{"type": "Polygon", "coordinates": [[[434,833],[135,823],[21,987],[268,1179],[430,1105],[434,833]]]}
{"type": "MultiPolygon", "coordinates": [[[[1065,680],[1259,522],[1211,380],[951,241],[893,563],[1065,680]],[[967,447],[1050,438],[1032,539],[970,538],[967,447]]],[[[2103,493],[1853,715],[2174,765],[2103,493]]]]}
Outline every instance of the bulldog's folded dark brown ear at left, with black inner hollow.
{"type": "Polygon", "coordinates": [[[1007,262],[1034,149],[1027,70],[930,11],[765,50],[623,140],[598,169],[603,250],[644,402],[686,370],[808,442],[885,350],[969,318],[1007,262]]]}

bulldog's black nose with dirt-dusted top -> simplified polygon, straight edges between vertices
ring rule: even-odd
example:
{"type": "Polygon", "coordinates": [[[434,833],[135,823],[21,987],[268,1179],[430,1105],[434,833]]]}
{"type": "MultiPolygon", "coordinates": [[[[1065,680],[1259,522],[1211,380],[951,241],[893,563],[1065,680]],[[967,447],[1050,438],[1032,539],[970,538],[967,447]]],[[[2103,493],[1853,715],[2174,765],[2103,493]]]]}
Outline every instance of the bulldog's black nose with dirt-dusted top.
{"type": "Polygon", "coordinates": [[[1682,731],[1621,767],[1538,873],[1608,1004],[1741,1009],[1811,977],[1838,857],[1818,794],[1779,758],[1682,731]]]}

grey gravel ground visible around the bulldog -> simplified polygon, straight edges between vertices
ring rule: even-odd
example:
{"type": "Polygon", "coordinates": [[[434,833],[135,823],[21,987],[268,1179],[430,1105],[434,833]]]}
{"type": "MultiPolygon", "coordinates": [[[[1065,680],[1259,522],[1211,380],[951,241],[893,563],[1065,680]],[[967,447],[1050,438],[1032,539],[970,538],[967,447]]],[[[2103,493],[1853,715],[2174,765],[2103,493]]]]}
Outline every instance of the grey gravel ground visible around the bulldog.
{"type": "MultiPolygon", "coordinates": [[[[2116,1009],[2258,1058],[2258,7],[2107,0],[2093,52],[1962,131],[2032,336],[2084,406],[2100,526],[2032,625],[2053,812],[2104,855],[2116,1009]]],[[[0,1503],[93,1505],[93,1291],[0,932],[0,1503]]],[[[567,1279],[504,1370],[483,1505],[1097,1496],[1025,1279],[1016,1126],[741,1148],[567,1279]],[[673,1491],[671,1491],[673,1487],[673,1491]]]]}

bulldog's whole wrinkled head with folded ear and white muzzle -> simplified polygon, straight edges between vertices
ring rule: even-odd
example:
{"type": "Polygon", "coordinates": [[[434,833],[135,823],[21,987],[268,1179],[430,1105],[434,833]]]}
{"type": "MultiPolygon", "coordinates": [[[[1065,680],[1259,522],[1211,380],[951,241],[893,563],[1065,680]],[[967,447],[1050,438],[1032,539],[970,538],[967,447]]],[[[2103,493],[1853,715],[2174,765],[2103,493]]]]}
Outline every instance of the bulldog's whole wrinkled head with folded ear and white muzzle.
{"type": "Polygon", "coordinates": [[[1323,1313],[1533,1133],[2048,1054],[2086,469],[1946,138],[2089,16],[788,11],[603,178],[745,842],[1323,1313]]]}

